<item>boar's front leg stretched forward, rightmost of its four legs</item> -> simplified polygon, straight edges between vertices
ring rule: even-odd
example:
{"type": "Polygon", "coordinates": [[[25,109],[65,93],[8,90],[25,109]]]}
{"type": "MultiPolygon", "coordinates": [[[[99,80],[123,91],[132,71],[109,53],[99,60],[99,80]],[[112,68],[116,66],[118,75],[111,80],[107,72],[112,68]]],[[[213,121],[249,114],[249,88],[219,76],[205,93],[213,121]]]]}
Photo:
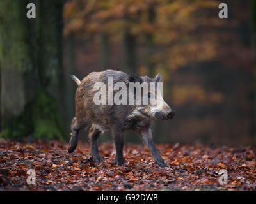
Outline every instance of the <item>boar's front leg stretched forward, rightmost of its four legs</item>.
{"type": "Polygon", "coordinates": [[[143,142],[145,143],[145,145],[147,145],[148,149],[150,150],[155,163],[161,167],[167,166],[166,163],[164,162],[164,159],[160,156],[158,150],[156,149],[156,146],[153,142],[151,129],[149,127],[141,128],[140,135],[143,142]]]}

